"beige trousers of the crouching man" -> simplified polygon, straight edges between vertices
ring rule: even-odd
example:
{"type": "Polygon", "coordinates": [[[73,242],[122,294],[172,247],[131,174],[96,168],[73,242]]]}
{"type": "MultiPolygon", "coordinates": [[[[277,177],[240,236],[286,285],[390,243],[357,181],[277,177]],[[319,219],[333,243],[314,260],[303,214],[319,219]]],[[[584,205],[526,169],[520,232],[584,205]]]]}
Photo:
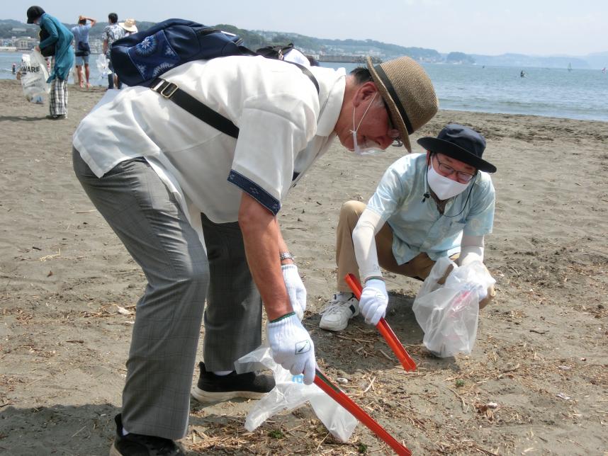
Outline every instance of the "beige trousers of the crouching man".
{"type": "MultiPolygon", "coordinates": [[[[340,209],[340,219],[337,227],[336,241],[336,263],[338,266],[337,290],[339,292],[349,292],[344,277],[351,273],[359,280],[359,266],[356,263],[352,233],[359,217],[366,208],[365,203],[360,201],[347,201],[340,209]]],[[[388,223],[385,223],[376,234],[376,250],[378,251],[378,263],[380,266],[391,273],[406,275],[418,280],[427,278],[435,262],[429,258],[427,253],[420,253],[404,264],[397,264],[393,256],[393,230],[388,223]]],[[[451,257],[458,258],[458,254],[451,257]]],[[[496,295],[494,286],[488,288],[488,296],[479,303],[479,308],[483,309],[496,295]]]]}

